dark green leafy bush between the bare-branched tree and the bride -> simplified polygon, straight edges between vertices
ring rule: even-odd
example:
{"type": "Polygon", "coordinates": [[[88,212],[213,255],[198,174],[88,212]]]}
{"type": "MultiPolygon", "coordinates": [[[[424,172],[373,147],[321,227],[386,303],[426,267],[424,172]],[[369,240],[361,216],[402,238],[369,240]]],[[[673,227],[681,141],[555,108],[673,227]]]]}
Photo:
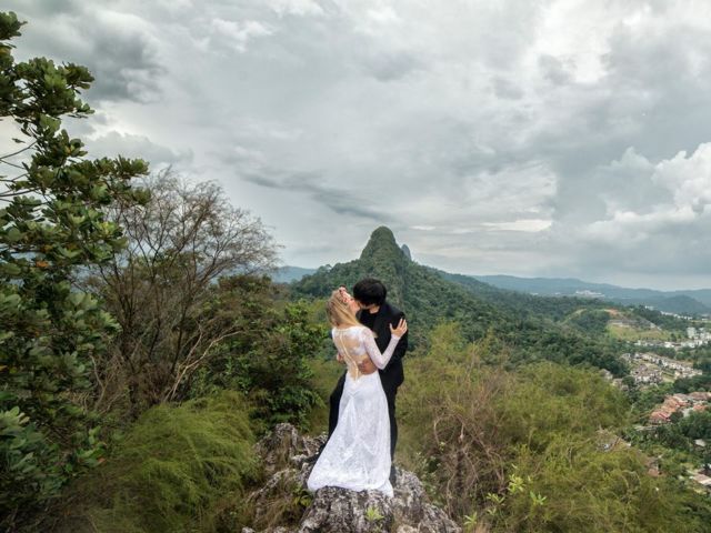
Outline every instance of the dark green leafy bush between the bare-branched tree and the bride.
{"type": "Polygon", "coordinates": [[[324,322],[314,322],[306,302],[283,303],[267,278],[220,280],[220,309],[230,314],[240,334],[226,340],[199,373],[193,394],[237,389],[256,405],[254,419],[264,429],[292,422],[304,426],[320,402],[311,385],[313,359],[328,338],[324,322]]]}

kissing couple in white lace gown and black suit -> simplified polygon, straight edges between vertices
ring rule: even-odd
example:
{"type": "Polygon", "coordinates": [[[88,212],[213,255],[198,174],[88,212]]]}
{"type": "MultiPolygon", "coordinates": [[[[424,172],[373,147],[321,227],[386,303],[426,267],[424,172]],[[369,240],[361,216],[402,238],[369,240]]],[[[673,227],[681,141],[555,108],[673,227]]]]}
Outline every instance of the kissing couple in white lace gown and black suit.
{"type": "Polygon", "coordinates": [[[393,495],[395,394],[404,380],[408,325],[387,294],[380,281],[364,279],[352,296],[341,286],[328,301],[337,359],[347,370],[331,394],[329,440],[309,476],[311,491],[340,486],[393,495]]]}

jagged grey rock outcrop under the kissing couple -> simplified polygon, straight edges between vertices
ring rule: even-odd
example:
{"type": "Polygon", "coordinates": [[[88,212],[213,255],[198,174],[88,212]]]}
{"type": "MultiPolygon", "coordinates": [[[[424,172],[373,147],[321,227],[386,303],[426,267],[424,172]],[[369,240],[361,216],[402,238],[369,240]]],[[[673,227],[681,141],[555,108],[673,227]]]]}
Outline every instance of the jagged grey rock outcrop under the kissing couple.
{"type": "MultiPolygon", "coordinates": [[[[353,492],[327,486],[306,490],[313,456],[324,442],[306,438],[290,424],[279,424],[257,445],[268,474],[249,496],[259,533],[459,533],[461,529],[432,505],[418,477],[397,469],[394,497],[378,491],[353,492]],[[281,522],[282,523],[278,523],[281,522]]],[[[242,533],[257,533],[244,527],[242,533]]]]}

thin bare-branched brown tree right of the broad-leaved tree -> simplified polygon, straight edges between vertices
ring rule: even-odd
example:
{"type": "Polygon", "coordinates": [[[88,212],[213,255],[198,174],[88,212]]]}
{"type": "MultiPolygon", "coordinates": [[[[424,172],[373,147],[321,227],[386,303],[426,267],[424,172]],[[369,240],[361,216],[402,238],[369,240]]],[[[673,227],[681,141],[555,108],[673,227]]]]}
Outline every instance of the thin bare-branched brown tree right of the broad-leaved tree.
{"type": "Polygon", "coordinates": [[[116,204],[127,248],[98,266],[94,290],[121,325],[99,364],[99,403],[124,390],[133,414],[184,398],[192,374],[217,345],[242,333],[220,301],[221,275],[272,268],[276,248],[259,219],[233,208],[212,182],[188,183],[171,171],[142,182],[146,205],[116,204]]]}

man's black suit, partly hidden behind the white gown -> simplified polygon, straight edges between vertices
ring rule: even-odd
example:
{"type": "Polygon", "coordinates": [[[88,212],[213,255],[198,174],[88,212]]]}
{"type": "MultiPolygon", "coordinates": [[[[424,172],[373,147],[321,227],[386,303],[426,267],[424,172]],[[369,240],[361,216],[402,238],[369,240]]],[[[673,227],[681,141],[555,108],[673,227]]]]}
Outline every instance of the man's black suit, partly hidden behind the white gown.
{"type": "MultiPolygon", "coordinates": [[[[370,328],[375,333],[375,344],[381,352],[384,352],[390,343],[390,324],[393,328],[398,326],[400,319],[404,319],[404,313],[388,302],[383,303],[377,313],[369,313],[360,311],[358,313],[358,320],[370,328]]],[[[382,389],[385,392],[388,399],[388,414],[390,415],[390,455],[394,457],[395,443],[398,441],[398,424],[395,423],[395,394],[398,388],[404,381],[404,372],[402,370],[402,358],[408,350],[408,334],[405,333],[398,342],[395,350],[392,354],[392,359],[388,365],[380,370],[380,382],[382,389]]],[[[341,403],[341,396],[343,395],[343,384],[346,383],[346,372],[338,380],[336,389],[331,393],[331,410],[329,412],[329,436],[336,430],[338,424],[338,409],[341,403]]]]}

